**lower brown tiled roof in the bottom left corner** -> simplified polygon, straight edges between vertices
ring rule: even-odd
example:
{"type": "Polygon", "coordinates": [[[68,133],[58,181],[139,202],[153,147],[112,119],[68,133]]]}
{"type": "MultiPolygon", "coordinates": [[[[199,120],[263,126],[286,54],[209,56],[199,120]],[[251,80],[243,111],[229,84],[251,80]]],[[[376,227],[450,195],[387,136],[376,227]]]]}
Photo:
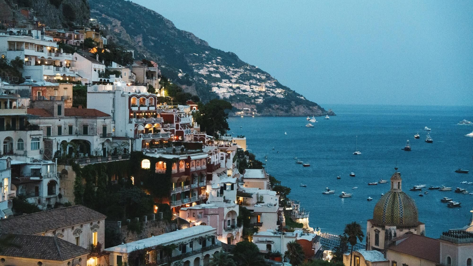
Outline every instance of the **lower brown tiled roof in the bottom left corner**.
{"type": "MultiPolygon", "coordinates": [[[[6,236],[7,234],[0,234],[0,238],[6,236]]],[[[11,235],[11,238],[11,243],[18,245],[18,247],[2,246],[0,256],[65,261],[89,253],[85,248],[56,237],[11,235]]]]}

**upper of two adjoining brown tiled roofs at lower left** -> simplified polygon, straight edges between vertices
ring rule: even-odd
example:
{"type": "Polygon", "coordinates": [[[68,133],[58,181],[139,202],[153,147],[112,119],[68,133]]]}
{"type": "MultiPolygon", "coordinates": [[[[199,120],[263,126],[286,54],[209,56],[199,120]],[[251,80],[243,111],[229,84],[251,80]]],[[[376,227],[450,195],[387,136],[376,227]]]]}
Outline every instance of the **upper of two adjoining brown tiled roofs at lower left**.
{"type": "Polygon", "coordinates": [[[105,218],[104,214],[86,206],[74,205],[1,219],[0,233],[32,235],[105,218]]]}

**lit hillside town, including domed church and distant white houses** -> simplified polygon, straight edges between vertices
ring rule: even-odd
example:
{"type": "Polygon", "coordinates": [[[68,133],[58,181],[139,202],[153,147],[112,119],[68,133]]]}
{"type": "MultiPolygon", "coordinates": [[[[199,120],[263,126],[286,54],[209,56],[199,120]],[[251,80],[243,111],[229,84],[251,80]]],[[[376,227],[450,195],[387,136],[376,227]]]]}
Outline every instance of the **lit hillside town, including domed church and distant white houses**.
{"type": "MultiPolygon", "coordinates": [[[[132,50],[119,53],[128,64],[101,59],[102,31],[94,19],[0,30],[1,60],[21,73],[0,77],[0,265],[472,265],[473,217],[426,237],[397,168],[366,236],[350,217],[345,235],[314,230],[318,213],[227,133],[218,100],[175,102],[158,63],[132,50]]],[[[195,71],[220,98],[285,97],[272,77],[217,61],[195,71]]]]}

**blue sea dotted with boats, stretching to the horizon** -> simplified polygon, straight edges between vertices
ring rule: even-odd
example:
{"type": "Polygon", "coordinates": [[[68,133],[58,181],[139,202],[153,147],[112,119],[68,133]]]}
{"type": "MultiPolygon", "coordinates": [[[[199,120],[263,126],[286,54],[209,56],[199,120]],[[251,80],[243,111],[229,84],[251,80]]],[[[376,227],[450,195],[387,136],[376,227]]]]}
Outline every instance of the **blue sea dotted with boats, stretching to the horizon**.
{"type": "Polygon", "coordinates": [[[306,117],[230,117],[229,133],[245,135],[248,150],[266,163],[267,171],[289,186],[289,197],[310,211],[310,226],[323,232],[340,234],[345,224],[359,222],[366,232],[366,221],[381,193],[390,184],[368,186],[368,182],[388,179],[397,166],[403,178],[403,191],[419,209],[419,220],[426,225],[426,235],[438,238],[443,231],[469,223],[473,195],[454,193],[455,187],[473,192],[473,138],[464,137],[473,126],[456,125],[462,119],[473,120],[473,106],[368,106],[330,105],[337,114],[330,120],[316,117],[314,128],[306,128],[306,117]],[[426,143],[431,128],[433,143],[426,143]],[[241,127],[241,128],[240,128],[241,127]],[[287,135],[284,135],[287,132],[287,135]],[[414,139],[414,134],[420,139],[414,139]],[[358,136],[360,155],[353,155],[358,136]],[[412,151],[403,151],[409,140],[412,151]],[[274,147],[274,151],[272,148],[274,147]],[[279,153],[278,153],[279,151],[279,153]],[[267,159],[264,156],[268,156],[267,159]],[[311,167],[296,164],[297,157],[311,167]],[[266,160],[266,161],[265,161],[266,160]],[[469,169],[469,174],[455,169],[469,169]],[[356,177],[350,177],[354,172],[356,177]],[[337,176],[342,177],[336,179],[337,176]],[[301,187],[299,184],[306,184],[301,187]],[[414,185],[451,186],[452,191],[409,191],[414,185]],[[358,186],[358,189],[351,189],[358,186]],[[334,194],[323,195],[326,187],[334,194]],[[342,192],[351,198],[340,198],[342,192]],[[367,201],[371,196],[372,201],[367,201]],[[448,208],[441,203],[444,196],[461,202],[461,207],[448,208]]]}

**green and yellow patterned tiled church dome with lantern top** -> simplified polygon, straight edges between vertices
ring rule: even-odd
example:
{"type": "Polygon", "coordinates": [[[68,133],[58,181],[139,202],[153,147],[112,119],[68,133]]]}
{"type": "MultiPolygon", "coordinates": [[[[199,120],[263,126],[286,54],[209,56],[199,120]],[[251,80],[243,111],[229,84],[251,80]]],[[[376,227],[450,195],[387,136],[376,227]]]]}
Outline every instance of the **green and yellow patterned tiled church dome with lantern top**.
{"type": "Polygon", "coordinates": [[[383,195],[375,206],[373,222],[379,225],[416,226],[418,224],[417,207],[414,200],[401,189],[401,174],[391,177],[391,190],[383,195]]]}

